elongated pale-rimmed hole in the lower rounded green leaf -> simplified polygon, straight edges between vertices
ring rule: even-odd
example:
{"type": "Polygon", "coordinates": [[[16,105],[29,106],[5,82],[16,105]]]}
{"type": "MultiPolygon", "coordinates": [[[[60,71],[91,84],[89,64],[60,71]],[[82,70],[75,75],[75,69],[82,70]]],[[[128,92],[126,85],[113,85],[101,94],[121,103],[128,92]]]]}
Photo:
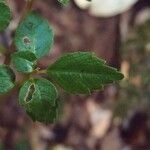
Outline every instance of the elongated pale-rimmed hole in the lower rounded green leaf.
{"type": "Polygon", "coordinates": [[[25,97],[26,102],[30,102],[32,100],[34,92],[35,92],[35,85],[31,84],[28,88],[28,92],[27,92],[26,97],[25,97]]]}

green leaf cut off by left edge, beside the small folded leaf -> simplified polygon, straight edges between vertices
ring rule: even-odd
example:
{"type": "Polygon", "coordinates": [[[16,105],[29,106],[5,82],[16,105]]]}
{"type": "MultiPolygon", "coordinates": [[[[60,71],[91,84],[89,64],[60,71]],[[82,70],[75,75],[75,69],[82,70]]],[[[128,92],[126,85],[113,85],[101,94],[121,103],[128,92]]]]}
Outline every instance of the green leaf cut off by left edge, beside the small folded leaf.
{"type": "Polygon", "coordinates": [[[4,94],[14,87],[15,74],[6,65],[0,65],[0,94],[4,94]]]}

